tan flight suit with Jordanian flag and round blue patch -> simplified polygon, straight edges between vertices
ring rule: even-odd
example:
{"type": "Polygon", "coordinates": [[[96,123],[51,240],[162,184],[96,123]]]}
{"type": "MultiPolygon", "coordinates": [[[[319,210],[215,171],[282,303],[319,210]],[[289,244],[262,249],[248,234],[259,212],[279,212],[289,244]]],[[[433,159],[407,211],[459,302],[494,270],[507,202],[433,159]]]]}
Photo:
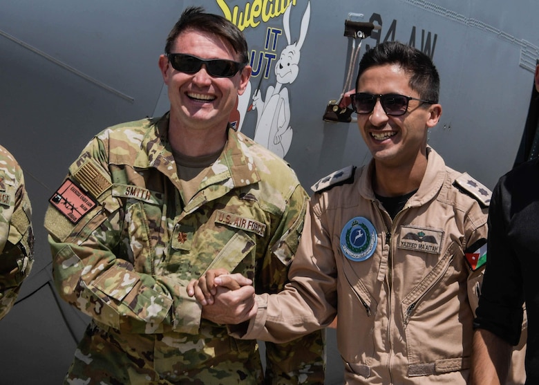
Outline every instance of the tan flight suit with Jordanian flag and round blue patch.
{"type": "Polygon", "coordinates": [[[317,184],[292,283],[257,297],[247,330],[231,329],[287,341],[338,313],[347,384],[466,384],[484,266],[473,270],[464,254],[486,241],[491,193],[429,147],[422,183],[392,221],[372,190],[373,166],[317,184]]]}

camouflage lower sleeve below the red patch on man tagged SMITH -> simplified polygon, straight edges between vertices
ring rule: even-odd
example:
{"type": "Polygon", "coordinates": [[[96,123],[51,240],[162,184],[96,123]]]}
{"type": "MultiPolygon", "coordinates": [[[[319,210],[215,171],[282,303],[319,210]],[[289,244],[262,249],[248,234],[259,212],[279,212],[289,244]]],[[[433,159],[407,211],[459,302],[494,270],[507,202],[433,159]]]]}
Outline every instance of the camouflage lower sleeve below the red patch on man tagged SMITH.
{"type": "Polygon", "coordinates": [[[187,297],[184,285],[173,276],[135,272],[131,262],[117,259],[100,241],[100,236],[107,237],[104,228],[109,224],[102,223],[80,243],[49,236],[54,281],[62,298],[119,330],[151,333],[164,323],[181,332],[198,332],[200,306],[187,297]]]}

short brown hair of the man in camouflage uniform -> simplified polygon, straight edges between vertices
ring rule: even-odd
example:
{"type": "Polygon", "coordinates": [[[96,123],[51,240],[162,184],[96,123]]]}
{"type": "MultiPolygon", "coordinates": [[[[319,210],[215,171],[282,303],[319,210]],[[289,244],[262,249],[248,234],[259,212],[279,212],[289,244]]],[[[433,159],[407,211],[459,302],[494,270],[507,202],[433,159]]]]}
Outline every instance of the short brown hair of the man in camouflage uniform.
{"type": "Polygon", "coordinates": [[[180,19],[169,32],[167,44],[164,46],[165,54],[171,53],[174,41],[185,30],[197,30],[225,39],[240,55],[240,62],[249,64],[247,41],[239,28],[223,16],[205,12],[202,7],[189,7],[182,12],[180,19]]]}

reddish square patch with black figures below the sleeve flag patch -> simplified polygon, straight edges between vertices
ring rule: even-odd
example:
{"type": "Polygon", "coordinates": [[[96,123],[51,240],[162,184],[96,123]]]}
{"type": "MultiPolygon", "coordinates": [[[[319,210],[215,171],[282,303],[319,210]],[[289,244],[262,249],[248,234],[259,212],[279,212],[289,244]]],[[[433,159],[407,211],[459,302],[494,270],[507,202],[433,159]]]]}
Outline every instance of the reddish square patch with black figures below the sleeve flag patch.
{"type": "Polygon", "coordinates": [[[77,223],[96,205],[88,194],[69,179],[62,183],[48,201],[73,223],[77,223]]]}

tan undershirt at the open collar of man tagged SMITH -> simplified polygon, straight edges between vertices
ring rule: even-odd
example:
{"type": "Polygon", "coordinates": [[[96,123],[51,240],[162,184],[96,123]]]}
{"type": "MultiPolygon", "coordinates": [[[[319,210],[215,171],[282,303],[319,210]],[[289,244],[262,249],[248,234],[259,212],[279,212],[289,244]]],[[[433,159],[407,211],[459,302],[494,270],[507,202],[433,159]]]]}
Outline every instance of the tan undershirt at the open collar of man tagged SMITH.
{"type": "Polygon", "coordinates": [[[182,184],[182,196],[185,204],[198,192],[200,182],[204,179],[207,169],[219,158],[223,149],[203,156],[187,156],[178,151],[172,151],[178,178],[182,184]]]}

